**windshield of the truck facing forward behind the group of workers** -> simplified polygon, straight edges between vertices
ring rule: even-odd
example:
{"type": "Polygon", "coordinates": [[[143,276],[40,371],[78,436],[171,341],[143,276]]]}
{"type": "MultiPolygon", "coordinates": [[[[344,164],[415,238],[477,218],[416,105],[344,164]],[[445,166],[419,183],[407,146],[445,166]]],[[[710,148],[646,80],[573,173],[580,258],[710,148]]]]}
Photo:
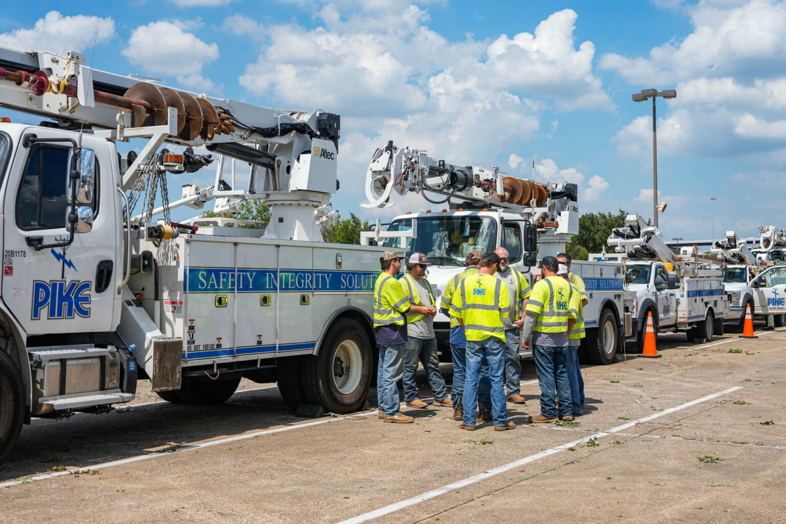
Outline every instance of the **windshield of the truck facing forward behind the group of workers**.
{"type": "MultiPolygon", "coordinates": [[[[423,253],[432,262],[464,266],[469,251],[494,250],[497,226],[492,218],[465,215],[418,217],[416,220],[417,238],[410,240],[406,251],[423,253]]],[[[391,222],[387,230],[410,231],[412,221],[412,218],[399,218],[391,222]]],[[[400,248],[400,244],[401,239],[391,238],[384,246],[400,248]]]]}

